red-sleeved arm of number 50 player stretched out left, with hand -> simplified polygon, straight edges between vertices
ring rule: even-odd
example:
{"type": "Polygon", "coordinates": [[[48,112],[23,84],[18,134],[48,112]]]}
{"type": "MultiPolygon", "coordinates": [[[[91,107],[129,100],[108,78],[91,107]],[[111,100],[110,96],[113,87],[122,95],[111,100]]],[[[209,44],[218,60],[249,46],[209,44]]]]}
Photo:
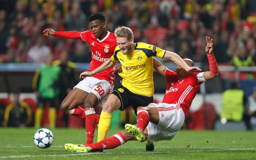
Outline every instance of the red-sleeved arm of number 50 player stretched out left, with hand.
{"type": "Polygon", "coordinates": [[[77,31],[67,31],[67,32],[55,32],[54,30],[48,28],[43,31],[45,33],[45,36],[52,35],[52,36],[59,36],[69,39],[82,39],[81,33],[77,31]]]}

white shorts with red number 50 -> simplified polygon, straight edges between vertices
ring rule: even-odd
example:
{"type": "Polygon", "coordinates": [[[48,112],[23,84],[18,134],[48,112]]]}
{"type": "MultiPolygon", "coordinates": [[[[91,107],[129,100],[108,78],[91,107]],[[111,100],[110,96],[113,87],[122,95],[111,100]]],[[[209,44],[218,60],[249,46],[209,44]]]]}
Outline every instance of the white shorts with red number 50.
{"type": "Polygon", "coordinates": [[[94,77],[86,77],[80,81],[74,88],[79,88],[88,93],[94,93],[99,100],[99,104],[108,98],[109,94],[113,91],[114,86],[106,80],[99,80],[94,77]]]}

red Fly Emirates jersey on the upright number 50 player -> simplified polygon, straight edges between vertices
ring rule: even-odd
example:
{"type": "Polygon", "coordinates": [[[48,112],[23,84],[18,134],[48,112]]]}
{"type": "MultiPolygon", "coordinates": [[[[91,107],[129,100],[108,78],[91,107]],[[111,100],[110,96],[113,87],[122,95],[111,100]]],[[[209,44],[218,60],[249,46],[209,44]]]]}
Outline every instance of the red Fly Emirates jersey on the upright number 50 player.
{"type": "MultiPolygon", "coordinates": [[[[82,40],[86,41],[90,47],[92,52],[92,61],[90,63],[90,69],[88,71],[93,71],[98,68],[109,59],[115,51],[115,47],[118,46],[116,43],[115,34],[107,31],[106,36],[99,40],[93,35],[92,30],[84,31],[81,33],[82,40]]],[[[110,67],[107,70],[104,70],[98,74],[95,74],[92,77],[95,77],[100,80],[107,80],[111,85],[115,84],[115,75],[114,68],[116,65],[110,67]]]]}

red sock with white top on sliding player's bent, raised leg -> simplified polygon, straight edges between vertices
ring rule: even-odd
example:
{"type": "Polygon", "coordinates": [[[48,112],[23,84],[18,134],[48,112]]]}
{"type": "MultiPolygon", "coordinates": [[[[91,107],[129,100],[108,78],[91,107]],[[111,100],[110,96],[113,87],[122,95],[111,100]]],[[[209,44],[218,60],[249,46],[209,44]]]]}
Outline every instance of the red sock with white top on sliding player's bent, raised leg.
{"type": "Polygon", "coordinates": [[[149,123],[149,115],[145,109],[137,109],[137,128],[144,132],[149,123]]]}

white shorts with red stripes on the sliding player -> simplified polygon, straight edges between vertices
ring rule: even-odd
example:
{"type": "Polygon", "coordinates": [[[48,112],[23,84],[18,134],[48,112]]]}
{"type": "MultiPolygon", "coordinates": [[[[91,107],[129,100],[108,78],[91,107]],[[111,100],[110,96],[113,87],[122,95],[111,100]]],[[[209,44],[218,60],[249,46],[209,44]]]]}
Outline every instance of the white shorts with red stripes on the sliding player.
{"type": "Polygon", "coordinates": [[[178,104],[150,103],[154,105],[159,113],[159,123],[154,125],[149,123],[147,126],[148,141],[157,142],[171,140],[182,127],[185,114],[178,104]]]}

